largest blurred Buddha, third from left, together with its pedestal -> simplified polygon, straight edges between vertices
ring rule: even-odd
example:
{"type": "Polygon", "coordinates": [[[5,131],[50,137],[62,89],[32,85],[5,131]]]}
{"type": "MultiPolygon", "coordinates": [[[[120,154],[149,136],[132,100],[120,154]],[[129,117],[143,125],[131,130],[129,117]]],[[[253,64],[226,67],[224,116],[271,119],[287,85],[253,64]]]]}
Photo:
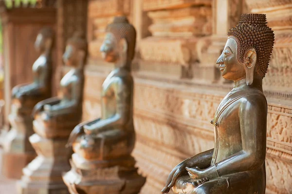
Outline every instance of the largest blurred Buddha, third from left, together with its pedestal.
{"type": "Polygon", "coordinates": [[[72,170],[63,179],[71,194],[137,194],[145,183],[131,157],[135,130],[130,69],[135,42],[136,31],[126,17],[116,17],[108,25],[100,51],[115,68],[102,86],[101,118],[77,125],[69,138],[72,170]]]}

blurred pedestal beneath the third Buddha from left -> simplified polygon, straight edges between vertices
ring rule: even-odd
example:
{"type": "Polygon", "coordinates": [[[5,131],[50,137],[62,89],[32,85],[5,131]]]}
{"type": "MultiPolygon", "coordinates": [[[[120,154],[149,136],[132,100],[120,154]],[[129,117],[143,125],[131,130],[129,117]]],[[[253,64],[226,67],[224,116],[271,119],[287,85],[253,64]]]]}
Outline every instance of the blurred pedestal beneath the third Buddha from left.
{"type": "Polygon", "coordinates": [[[63,180],[70,194],[138,194],[146,178],[138,175],[132,161],[133,158],[125,159],[120,161],[123,166],[110,167],[105,166],[114,161],[87,161],[89,168],[82,169],[78,163],[84,165],[85,159],[73,154],[72,169],[63,175],[63,180]],[[127,163],[131,164],[127,166],[127,163]]]}

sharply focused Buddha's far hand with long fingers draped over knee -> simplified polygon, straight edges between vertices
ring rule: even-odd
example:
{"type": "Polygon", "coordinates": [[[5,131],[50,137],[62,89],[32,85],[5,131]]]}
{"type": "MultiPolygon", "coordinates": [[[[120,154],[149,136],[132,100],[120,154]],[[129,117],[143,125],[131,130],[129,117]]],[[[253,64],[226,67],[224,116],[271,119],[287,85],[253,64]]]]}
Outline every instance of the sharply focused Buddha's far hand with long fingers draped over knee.
{"type": "Polygon", "coordinates": [[[170,172],[167,181],[165,183],[165,186],[163,190],[161,191],[162,194],[167,194],[169,190],[175,185],[176,180],[187,174],[187,171],[185,170],[186,164],[188,162],[188,159],[182,161],[179,163],[174,169],[170,172]]]}

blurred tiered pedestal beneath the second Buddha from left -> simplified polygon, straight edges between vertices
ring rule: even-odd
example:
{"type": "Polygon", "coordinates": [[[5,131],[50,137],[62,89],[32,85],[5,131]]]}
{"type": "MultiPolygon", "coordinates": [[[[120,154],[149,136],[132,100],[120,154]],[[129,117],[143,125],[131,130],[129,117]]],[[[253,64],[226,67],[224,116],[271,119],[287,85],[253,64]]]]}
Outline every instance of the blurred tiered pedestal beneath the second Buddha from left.
{"type": "Polygon", "coordinates": [[[70,170],[71,149],[65,147],[67,138],[46,139],[38,134],[29,138],[37,158],[22,171],[19,194],[68,194],[62,173],[70,170]]]}

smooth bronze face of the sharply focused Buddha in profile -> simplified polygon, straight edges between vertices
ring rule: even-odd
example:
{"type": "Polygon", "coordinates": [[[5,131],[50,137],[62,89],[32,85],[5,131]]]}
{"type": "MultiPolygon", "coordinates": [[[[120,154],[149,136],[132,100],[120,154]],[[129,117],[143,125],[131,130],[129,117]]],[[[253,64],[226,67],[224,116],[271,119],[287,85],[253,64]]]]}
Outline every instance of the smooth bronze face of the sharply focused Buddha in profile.
{"type": "Polygon", "coordinates": [[[237,81],[245,77],[245,70],[237,58],[237,41],[234,37],[228,37],[223,52],[217,60],[222,77],[237,81]]]}

